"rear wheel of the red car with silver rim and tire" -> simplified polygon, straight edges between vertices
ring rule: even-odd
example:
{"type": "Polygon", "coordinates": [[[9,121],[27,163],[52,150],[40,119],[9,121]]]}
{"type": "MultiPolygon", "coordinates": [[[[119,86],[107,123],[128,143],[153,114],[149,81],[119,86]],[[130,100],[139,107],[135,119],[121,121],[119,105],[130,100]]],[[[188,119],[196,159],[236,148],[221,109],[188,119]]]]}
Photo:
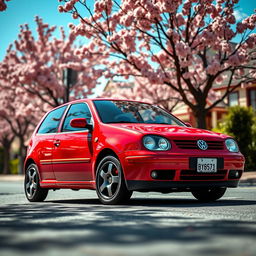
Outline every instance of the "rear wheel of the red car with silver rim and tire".
{"type": "Polygon", "coordinates": [[[48,194],[48,189],[40,187],[40,179],[36,164],[30,164],[25,172],[25,195],[30,202],[42,202],[48,194]]]}

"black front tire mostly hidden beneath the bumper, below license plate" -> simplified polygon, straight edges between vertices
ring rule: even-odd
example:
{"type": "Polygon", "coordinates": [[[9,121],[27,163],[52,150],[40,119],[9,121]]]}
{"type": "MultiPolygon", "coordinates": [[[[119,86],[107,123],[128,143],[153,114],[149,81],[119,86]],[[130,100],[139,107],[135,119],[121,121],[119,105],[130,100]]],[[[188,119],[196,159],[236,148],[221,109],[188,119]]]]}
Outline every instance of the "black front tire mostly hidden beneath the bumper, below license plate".
{"type": "Polygon", "coordinates": [[[192,195],[201,202],[214,202],[220,199],[227,188],[205,188],[192,191],[192,195]]]}

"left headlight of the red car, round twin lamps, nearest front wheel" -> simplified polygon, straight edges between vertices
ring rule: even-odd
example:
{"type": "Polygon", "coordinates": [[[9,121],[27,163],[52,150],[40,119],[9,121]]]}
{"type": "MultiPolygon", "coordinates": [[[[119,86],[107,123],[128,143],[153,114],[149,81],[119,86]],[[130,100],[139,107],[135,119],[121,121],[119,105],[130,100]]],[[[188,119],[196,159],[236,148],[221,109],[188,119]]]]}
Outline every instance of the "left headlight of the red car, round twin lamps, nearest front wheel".
{"type": "Polygon", "coordinates": [[[147,135],[143,138],[143,145],[149,150],[166,151],[171,148],[170,142],[164,137],[147,135]]]}

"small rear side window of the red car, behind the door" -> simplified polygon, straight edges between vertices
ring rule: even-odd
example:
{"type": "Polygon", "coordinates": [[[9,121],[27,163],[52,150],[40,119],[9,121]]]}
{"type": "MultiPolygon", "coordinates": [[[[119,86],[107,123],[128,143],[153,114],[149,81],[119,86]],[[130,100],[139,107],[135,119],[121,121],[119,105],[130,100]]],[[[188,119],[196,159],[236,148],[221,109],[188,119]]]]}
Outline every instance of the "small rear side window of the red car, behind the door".
{"type": "Polygon", "coordinates": [[[37,133],[53,133],[57,132],[61,117],[67,106],[57,108],[50,112],[40,125],[37,133]]]}

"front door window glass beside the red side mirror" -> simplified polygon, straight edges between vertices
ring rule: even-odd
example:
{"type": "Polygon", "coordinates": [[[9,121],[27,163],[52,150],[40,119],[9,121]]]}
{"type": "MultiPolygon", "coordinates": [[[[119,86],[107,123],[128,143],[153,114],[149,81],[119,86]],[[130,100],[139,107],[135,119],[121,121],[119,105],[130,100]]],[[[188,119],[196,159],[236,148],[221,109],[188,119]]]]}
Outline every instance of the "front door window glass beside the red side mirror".
{"type": "Polygon", "coordinates": [[[88,124],[92,123],[91,120],[91,112],[89,110],[89,107],[85,103],[77,103],[73,104],[65,117],[62,132],[71,132],[71,131],[82,131],[85,130],[85,128],[73,128],[70,126],[70,121],[74,118],[86,118],[86,121],[88,124]]]}

